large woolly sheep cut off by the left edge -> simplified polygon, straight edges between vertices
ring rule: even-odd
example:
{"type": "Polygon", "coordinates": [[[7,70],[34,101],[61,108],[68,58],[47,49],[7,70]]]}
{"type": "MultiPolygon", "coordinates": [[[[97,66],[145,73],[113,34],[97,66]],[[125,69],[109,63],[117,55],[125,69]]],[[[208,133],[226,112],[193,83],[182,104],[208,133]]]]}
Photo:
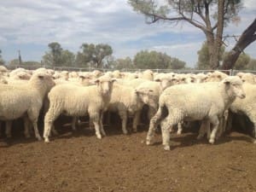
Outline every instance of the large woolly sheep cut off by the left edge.
{"type": "Polygon", "coordinates": [[[53,86],[53,79],[45,73],[33,74],[27,84],[0,84],[0,119],[8,121],[7,135],[10,135],[10,120],[26,117],[32,122],[35,136],[41,140],[38,132],[38,116],[44,96],[53,86]]]}

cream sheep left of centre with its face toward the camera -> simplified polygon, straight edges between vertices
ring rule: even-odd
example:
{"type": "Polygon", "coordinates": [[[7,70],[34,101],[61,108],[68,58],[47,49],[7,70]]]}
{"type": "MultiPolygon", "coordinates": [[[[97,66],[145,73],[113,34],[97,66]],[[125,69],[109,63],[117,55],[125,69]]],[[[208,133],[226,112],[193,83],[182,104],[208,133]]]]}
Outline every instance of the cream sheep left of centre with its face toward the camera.
{"type": "Polygon", "coordinates": [[[95,80],[96,85],[82,87],[60,84],[50,90],[49,110],[44,117],[44,142],[49,143],[52,125],[61,113],[75,117],[89,113],[95,125],[96,137],[101,139],[102,135],[106,136],[102,125],[102,113],[108,108],[113,81],[107,76],[102,76],[95,80]]]}

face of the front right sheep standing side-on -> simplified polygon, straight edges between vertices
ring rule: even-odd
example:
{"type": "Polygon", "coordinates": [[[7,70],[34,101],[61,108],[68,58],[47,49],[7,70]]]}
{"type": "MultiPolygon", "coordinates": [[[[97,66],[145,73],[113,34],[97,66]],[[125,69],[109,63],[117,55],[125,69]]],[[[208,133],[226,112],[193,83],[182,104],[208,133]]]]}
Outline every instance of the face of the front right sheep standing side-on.
{"type": "Polygon", "coordinates": [[[242,81],[238,77],[229,77],[223,80],[229,96],[237,96],[241,99],[246,97],[242,87],[242,81]]]}

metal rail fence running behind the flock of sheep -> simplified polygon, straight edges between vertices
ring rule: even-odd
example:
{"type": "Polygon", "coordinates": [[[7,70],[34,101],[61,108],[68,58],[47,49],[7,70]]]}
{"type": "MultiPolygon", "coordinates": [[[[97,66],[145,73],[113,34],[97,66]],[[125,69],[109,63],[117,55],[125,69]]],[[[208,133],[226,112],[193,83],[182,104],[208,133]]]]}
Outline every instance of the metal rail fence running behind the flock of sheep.
{"type": "MultiPolygon", "coordinates": [[[[25,66],[24,65],[19,65],[19,66],[12,66],[12,67],[7,66],[7,68],[9,68],[10,70],[13,70],[13,69],[19,68],[19,67],[29,69],[29,70],[35,70],[35,69],[39,68],[40,66],[26,66],[26,65],[25,66]]],[[[45,66],[41,66],[41,67],[45,67],[45,66]]],[[[49,66],[47,66],[45,68],[53,69],[53,70],[56,70],[56,71],[68,71],[68,72],[71,72],[71,71],[92,72],[94,70],[99,70],[103,73],[106,73],[108,71],[117,70],[115,68],[95,68],[95,67],[49,67],[49,66]]],[[[123,68],[119,71],[136,73],[136,72],[143,72],[145,70],[146,69],[123,68]]],[[[156,72],[156,73],[209,73],[209,72],[215,71],[215,70],[199,70],[199,69],[149,69],[149,70],[152,70],[153,72],[156,72]]],[[[236,75],[236,73],[239,73],[239,72],[256,74],[256,71],[252,71],[252,70],[233,70],[233,69],[230,69],[230,70],[218,70],[218,71],[224,72],[224,73],[227,73],[227,74],[230,74],[230,75],[236,75]]]]}

